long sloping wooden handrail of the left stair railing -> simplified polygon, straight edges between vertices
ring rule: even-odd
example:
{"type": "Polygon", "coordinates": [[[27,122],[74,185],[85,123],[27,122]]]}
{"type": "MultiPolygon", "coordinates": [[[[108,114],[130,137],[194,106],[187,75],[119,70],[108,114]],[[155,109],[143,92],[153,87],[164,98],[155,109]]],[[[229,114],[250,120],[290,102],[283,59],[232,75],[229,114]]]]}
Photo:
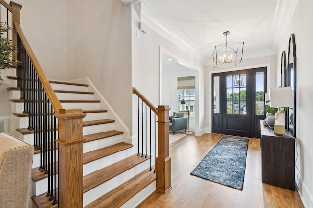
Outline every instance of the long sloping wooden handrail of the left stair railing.
{"type": "Polygon", "coordinates": [[[21,41],[24,45],[24,48],[28,54],[28,57],[30,58],[35,70],[36,70],[36,73],[45,89],[45,93],[47,94],[51,104],[52,104],[52,107],[55,111],[55,113],[59,113],[59,109],[62,109],[62,105],[57,97],[57,95],[54,93],[54,90],[52,89],[50,83],[49,83],[49,80],[47,79],[47,77],[45,76],[45,73],[44,73],[44,70],[43,68],[41,67],[37,57],[35,56],[33,50],[31,49],[23,31],[22,31],[22,28],[20,27],[20,24],[18,22],[14,22],[14,27],[17,31],[17,33],[19,34],[20,38],[21,38],[21,41]]]}

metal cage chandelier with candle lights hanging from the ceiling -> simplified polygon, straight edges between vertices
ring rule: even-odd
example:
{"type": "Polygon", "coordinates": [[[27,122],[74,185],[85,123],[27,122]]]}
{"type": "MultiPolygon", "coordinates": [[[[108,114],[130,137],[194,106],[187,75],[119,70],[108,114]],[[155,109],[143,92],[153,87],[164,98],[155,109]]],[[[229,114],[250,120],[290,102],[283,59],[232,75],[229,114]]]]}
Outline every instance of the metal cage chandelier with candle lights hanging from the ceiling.
{"type": "Polygon", "coordinates": [[[221,65],[226,63],[237,66],[243,59],[244,42],[227,42],[229,31],[224,32],[223,35],[226,36],[225,43],[217,45],[213,49],[214,68],[221,68],[221,65]]]}

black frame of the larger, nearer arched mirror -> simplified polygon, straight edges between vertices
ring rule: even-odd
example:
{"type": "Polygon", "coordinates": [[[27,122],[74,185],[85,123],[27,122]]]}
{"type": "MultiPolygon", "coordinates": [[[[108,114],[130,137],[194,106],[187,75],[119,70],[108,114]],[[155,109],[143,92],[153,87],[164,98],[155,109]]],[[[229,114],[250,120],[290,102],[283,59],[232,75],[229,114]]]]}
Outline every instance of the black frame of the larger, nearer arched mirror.
{"type": "MultiPolygon", "coordinates": [[[[292,33],[289,37],[288,43],[288,62],[287,62],[287,86],[291,86],[291,81],[293,81],[293,136],[296,137],[296,69],[297,69],[297,57],[296,57],[296,45],[295,45],[295,37],[294,33],[292,33]],[[291,66],[290,66],[290,47],[292,40],[292,49],[293,49],[293,80],[291,79],[291,66]]],[[[289,108],[286,112],[286,116],[289,115],[289,108]]],[[[287,130],[289,130],[289,125],[287,125],[287,130]]],[[[291,132],[292,133],[292,132],[291,132]]]]}

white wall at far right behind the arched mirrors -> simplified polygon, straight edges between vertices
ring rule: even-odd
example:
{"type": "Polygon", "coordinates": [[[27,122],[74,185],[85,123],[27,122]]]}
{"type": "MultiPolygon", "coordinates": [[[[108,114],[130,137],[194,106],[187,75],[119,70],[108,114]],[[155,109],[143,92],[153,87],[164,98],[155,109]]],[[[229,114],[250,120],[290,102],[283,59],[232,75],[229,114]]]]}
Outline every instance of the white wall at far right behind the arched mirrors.
{"type": "Polygon", "coordinates": [[[313,207],[313,66],[312,45],[313,1],[299,0],[291,23],[281,38],[277,53],[277,68],[280,68],[281,52],[288,55],[288,41],[291,33],[295,34],[296,42],[296,184],[305,207],[313,207]],[[300,173],[298,174],[298,170],[300,173]]]}

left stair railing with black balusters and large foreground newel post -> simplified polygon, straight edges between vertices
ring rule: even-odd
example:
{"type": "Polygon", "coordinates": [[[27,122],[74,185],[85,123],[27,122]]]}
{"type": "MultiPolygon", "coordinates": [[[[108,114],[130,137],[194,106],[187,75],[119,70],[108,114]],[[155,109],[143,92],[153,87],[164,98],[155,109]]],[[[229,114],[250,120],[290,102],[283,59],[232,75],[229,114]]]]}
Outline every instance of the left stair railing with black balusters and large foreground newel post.
{"type": "Polygon", "coordinates": [[[0,0],[0,6],[7,9],[7,23],[9,17],[12,20],[12,42],[18,49],[12,59],[21,61],[17,66],[17,84],[24,102],[23,113],[29,115],[28,130],[34,132],[34,146],[41,152],[40,170],[48,174],[47,197],[59,208],[82,208],[82,119],[86,113],[82,109],[62,108],[20,27],[22,6],[4,0],[0,0]]]}

